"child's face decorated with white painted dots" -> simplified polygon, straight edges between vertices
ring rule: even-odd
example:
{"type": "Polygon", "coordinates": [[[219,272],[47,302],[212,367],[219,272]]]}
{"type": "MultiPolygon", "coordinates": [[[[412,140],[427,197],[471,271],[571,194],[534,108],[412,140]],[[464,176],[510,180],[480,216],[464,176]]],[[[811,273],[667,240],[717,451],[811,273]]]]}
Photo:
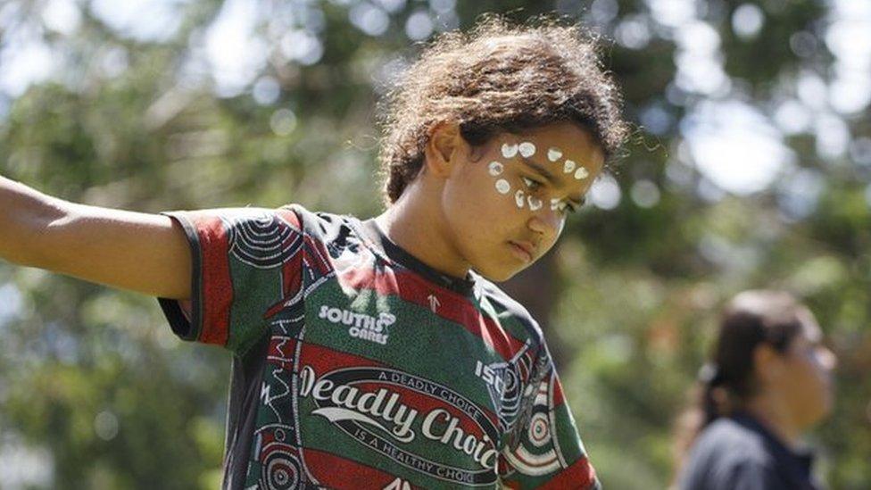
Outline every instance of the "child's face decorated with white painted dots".
{"type": "Polygon", "coordinates": [[[551,249],[604,157],[568,122],[504,133],[474,148],[444,187],[445,220],[472,269],[505,280],[551,249]]]}

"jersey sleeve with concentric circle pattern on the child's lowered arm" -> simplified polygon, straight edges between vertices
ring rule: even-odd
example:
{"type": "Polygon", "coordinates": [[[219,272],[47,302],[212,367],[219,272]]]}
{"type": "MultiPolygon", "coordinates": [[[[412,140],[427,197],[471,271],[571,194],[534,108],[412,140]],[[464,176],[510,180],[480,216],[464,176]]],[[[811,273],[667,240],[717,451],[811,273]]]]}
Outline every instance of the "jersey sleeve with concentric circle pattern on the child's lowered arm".
{"type": "Polygon", "coordinates": [[[544,347],[535,368],[500,458],[502,484],[510,488],[600,488],[544,347]]]}

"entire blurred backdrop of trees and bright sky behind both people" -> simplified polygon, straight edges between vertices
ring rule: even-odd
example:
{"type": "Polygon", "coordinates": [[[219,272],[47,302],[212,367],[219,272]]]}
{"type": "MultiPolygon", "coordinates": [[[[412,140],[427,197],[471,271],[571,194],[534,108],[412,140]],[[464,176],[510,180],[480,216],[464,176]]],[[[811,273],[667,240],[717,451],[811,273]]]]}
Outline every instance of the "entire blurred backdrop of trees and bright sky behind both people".
{"type": "MultiPolygon", "coordinates": [[[[379,96],[483,12],[601,34],[635,124],[509,285],[606,486],[668,486],[715,312],[784,287],[840,360],[820,473],[871,487],[871,2],[5,0],[0,173],[143,212],[370,216],[379,96]]],[[[229,364],[152,298],[0,263],[0,487],[217,487],[229,364]]]]}

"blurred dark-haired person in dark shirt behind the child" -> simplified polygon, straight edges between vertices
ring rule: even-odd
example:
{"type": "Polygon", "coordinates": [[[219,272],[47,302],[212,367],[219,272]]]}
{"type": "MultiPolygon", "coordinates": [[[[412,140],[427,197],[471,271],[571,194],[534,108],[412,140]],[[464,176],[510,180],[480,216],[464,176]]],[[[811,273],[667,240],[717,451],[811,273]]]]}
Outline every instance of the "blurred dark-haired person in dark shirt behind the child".
{"type": "Polygon", "coordinates": [[[800,436],[832,410],[834,354],[787,293],[745,291],[720,320],[697,406],[684,416],[681,490],[817,490],[800,436]]]}

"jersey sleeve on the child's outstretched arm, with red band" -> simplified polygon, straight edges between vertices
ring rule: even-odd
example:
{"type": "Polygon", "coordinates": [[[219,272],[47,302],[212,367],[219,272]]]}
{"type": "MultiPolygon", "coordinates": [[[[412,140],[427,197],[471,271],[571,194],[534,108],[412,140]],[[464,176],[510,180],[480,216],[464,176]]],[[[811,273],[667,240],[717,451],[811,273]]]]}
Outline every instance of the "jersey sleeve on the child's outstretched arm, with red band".
{"type": "Polygon", "coordinates": [[[289,208],[164,214],[184,229],[193,258],[190,302],[159,298],[170,327],[184,340],[244,353],[301,291],[299,215],[289,208]]]}

